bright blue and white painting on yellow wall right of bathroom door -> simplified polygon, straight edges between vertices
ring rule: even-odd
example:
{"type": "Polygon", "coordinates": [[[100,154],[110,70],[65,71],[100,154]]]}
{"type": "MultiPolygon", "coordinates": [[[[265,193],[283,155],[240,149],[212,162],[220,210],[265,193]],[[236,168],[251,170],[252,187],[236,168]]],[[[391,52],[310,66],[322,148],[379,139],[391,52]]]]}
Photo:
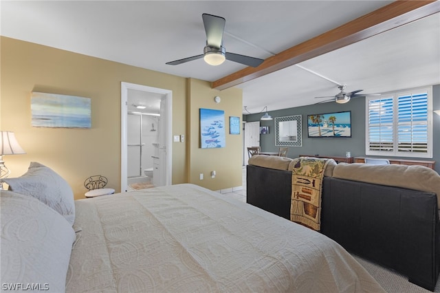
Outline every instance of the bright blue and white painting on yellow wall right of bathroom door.
{"type": "Polygon", "coordinates": [[[200,141],[202,149],[216,149],[226,146],[225,111],[200,109],[200,141]]]}

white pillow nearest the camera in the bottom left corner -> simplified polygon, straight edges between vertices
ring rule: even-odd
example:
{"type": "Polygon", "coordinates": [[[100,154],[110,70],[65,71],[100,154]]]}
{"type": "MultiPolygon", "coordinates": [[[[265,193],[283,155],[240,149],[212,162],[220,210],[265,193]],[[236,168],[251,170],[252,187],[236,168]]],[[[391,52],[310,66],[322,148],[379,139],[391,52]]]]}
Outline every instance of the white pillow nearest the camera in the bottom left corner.
{"type": "Polygon", "coordinates": [[[38,199],[0,193],[2,290],[65,292],[72,225],[38,199]]]}

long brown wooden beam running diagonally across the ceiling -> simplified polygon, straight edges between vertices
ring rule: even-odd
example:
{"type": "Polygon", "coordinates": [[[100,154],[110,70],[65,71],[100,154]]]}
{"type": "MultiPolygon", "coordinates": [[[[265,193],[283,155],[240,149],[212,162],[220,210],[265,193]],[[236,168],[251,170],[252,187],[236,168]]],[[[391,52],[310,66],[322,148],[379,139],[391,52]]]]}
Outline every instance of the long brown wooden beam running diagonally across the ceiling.
{"type": "Polygon", "coordinates": [[[259,67],[246,67],[215,80],[212,88],[221,90],[234,87],[438,12],[440,1],[395,1],[271,56],[259,67]]]}

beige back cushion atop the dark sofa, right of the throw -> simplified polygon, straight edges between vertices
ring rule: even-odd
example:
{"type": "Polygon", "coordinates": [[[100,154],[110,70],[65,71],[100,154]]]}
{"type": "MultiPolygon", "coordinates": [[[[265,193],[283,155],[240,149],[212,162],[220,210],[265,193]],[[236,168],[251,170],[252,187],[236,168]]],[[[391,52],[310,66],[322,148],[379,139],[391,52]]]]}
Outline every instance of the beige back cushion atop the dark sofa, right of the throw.
{"type": "Polygon", "coordinates": [[[440,208],[440,175],[426,166],[340,163],[333,169],[333,177],[436,193],[440,208]]]}

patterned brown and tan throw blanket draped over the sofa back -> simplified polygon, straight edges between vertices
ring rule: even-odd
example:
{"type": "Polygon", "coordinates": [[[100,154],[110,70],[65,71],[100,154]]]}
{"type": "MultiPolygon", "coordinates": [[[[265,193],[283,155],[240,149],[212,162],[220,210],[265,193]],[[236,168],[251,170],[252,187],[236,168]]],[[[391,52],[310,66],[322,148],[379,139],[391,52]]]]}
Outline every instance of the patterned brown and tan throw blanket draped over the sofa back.
{"type": "Polygon", "coordinates": [[[321,191],[328,159],[298,158],[292,168],[290,220],[320,230],[321,191]]]}

